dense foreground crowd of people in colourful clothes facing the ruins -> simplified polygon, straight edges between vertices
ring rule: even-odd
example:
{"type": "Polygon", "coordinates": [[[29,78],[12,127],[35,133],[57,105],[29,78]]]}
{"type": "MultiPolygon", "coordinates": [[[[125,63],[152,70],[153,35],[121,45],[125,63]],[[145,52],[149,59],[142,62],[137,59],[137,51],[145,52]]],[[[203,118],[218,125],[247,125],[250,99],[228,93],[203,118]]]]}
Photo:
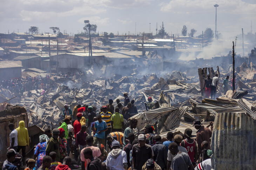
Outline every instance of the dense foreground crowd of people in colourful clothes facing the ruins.
{"type": "Polygon", "coordinates": [[[117,101],[115,107],[109,99],[97,115],[94,106],[78,105],[72,112],[65,105],[60,127],[44,130],[33,158],[26,157],[29,136],[25,122],[20,121],[16,129],[10,123],[10,148],[2,169],[19,170],[23,162],[25,170],[71,170],[71,165],[75,169],[81,165],[81,170],[210,170],[213,153],[208,127],[213,123],[204,127],[200,120],[194,121],[196,140],[190,128],[181,134],[168,132],[167,139],[157,135],[153,125],[146,125],[144,133],[137,132],[139,122],[128,121],[129,111],[123,112],[133,105],[128,93],[124,97],[126,103],[117,101]]]}

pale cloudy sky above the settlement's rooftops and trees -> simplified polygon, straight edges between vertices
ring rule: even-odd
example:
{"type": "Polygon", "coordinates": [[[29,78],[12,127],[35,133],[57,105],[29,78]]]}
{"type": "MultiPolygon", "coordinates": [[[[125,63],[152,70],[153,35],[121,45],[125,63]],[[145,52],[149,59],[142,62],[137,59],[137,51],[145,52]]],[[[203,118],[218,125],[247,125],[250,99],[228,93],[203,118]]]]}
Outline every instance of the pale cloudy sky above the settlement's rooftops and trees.
{"type": "Polygon", "coordinates": [[[40,33],[59,27],[68,34],[80,33],[84,20],[97,25],[97,31],[136,34],[156,34],[162,22],[169,34],[181,34],[183,25],[197,30],[206,28],[225,37],[256,32],[256,0],[0,0],[0,33],[26,32],[30,26],[40,33]],[[149,24],[151,23],[151,24],[149,24]]]}

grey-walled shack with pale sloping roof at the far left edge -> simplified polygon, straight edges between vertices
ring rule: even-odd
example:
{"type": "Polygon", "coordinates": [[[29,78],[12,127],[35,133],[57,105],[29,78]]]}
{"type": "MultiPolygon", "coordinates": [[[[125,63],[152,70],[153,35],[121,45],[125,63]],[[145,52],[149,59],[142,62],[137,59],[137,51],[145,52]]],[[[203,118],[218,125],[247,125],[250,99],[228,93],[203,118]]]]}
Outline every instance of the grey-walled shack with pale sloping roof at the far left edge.
{"type": "Polygon", "coordinates": [[[22,65],[11,61],[0,62],[0,80],[21,77],[22,65]]]}

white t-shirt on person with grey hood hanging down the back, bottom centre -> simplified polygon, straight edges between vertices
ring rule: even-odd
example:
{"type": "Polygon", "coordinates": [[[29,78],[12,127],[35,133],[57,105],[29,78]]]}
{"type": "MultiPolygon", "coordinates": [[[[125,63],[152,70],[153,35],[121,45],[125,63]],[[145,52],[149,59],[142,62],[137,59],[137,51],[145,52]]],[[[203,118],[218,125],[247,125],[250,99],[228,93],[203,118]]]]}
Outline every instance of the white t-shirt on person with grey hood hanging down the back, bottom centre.
{"type": "Polygon", "coordinates": [[[123,163],[127,163],[126,152],[122,150],[122,153],[114,159],[110,154],[107,156],[106,166],[110,169],[125,170],[123,163]]]}

